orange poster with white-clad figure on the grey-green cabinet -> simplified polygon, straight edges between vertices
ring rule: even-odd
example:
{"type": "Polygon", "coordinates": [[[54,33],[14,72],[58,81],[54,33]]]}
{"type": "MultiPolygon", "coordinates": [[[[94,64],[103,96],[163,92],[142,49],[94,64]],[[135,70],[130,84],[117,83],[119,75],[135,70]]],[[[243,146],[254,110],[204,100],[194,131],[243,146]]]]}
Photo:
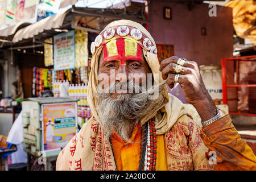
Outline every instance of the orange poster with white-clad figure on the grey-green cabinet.
{"type": "Polygon", "coordinates": [[[76,102],[42,105],[43,150],[59,150],[76,135],[76,102]]]}

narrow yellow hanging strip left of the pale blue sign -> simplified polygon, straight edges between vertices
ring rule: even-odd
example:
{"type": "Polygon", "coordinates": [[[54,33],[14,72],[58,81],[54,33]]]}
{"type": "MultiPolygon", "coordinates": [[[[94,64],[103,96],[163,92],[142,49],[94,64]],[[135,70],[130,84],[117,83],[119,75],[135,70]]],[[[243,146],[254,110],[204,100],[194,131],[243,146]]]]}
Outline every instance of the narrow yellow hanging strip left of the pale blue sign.
{"type": "Polygon", "coordinates": [[[52,38],[44,40],[44,65],[49,67],[53,65],[53,46],[52,38]],[[47,44],[48,43],[48,44],[47,44]]]}

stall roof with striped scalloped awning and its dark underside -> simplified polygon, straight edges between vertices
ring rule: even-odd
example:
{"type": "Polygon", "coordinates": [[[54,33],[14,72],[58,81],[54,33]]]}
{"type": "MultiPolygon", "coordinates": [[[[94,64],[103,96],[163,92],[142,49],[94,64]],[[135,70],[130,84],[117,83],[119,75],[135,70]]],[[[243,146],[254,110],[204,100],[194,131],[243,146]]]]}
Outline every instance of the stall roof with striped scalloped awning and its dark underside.
{"type": "MultiPolygon", "coordinates": [[[[137,9],[92,9],[86,7],[72,7],[55,15],[49,16],[39,22],[30,24],[20,29],[13,37],[13,43],[18,43],[26,39],[29,40],[36,36],[36,39],[43,39],[47,36],[59,34],[55,29],[81,29],[90,32],[100,32],[101,26],[116,19],[130,19],[141,23],[147,23],[142,15],[144,4],[139,3],[137,9]],[[141,7],[141,9],[139,9],[141,7]]],[[[43,43],[42,40],[39,42],[43,43]]]]}

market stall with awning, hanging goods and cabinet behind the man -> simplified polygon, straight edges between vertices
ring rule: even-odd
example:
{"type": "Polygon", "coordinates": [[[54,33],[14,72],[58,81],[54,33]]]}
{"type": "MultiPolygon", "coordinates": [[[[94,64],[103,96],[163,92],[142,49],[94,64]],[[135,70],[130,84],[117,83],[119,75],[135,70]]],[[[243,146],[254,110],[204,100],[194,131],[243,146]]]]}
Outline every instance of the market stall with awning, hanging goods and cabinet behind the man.
{"type": "Polygon", "coordinates": [[[23,129],[16,133],[23,135],[28,170],[54,170],[61,148],[90,119],[86,94],[90,44],[109,21],[126,18],[147,23],[144,4],[135,4],[136,9],[104,11],[72,6],[16,28],[10,42],[2,45],[6,57],[19,68],[23,85],[24,99],[19,102],[23,129]],[[64,108],[70,103],[72,108],[64,108]],[[70,110],[72,117],[64,116],[70,110]]]}

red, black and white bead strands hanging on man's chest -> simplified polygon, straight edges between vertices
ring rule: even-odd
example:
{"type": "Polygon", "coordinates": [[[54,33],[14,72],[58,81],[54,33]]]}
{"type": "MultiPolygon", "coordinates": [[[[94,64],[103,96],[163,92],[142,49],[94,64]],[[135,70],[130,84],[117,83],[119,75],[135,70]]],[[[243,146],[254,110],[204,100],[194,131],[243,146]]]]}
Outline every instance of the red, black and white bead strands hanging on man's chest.
{"type": "Polygon", "coordinates": [[[142,126],[141,156],[139,171],[155,171],[156,166],[156,129],[155,121],[150,120],[142,126]]]}

